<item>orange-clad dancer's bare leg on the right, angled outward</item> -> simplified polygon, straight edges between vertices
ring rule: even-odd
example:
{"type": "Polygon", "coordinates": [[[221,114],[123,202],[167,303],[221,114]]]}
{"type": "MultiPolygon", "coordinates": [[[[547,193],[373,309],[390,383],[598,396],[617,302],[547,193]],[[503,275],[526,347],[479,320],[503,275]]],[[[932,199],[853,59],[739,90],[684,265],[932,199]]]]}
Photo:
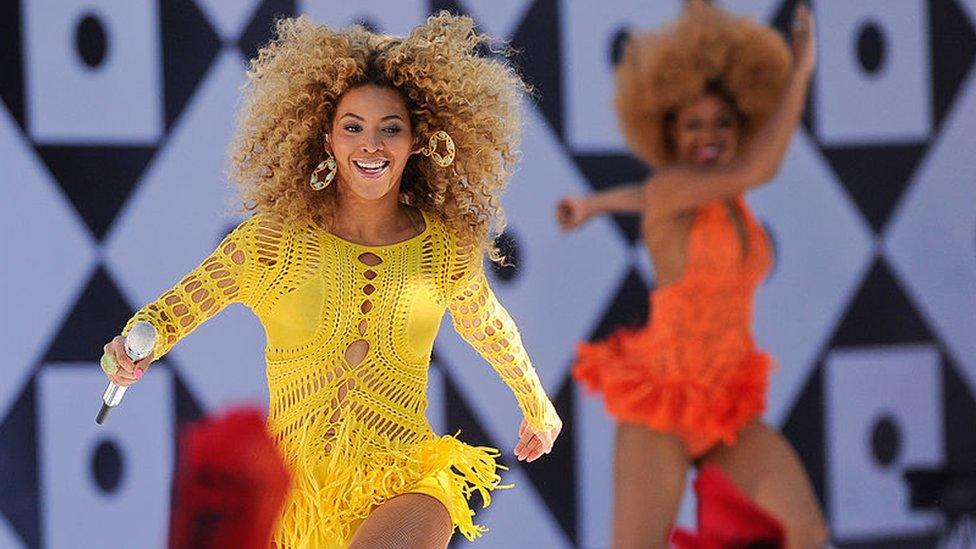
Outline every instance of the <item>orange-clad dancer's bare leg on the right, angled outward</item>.
{"type": "Polygon", "coordinates": [[[719,444],[702,463],[720,467],[760,507],[783,523],[787,547],[823,547],[827,524],[793,447],[765,423],[747,425],[734,446],[719,444]]]}

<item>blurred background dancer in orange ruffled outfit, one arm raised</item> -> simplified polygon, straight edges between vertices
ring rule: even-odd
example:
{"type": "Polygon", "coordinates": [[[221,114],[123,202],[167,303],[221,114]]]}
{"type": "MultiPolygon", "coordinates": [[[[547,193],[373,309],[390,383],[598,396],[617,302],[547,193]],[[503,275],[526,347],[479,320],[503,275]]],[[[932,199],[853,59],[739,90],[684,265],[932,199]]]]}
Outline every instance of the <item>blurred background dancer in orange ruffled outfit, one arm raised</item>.
{"type": "Polygon", "coordinates": [[[664,547],[685,473],[714,464],[785,526],[790,547],[827,541],[796,453],[761,420],[771,368],[751,334],[771,265],[742,195],[775,175],[814,67],[813,21],[795,14],[793,56],[773,30],[693,2],[626,45],[616,107],[642,185],[557,206],[565,229],[607,212],[642,214],[657,288],[638,330],[579,346],[574,376],[617,419],[614,547],[664,547]]]}

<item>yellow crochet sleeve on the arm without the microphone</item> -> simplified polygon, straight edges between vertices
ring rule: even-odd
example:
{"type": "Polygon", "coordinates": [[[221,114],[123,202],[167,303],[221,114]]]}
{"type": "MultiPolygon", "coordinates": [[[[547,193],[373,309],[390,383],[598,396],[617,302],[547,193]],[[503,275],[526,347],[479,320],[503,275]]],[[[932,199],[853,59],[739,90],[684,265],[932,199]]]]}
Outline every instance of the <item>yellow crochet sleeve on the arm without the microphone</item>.
{"type": "Polygon", "coordinates": [[[498,372],[515,394],[530,428],[547,432],[559,416],[522,346],[518,328],[488,285],[480,262],[461,280],[449,305],[454,329],[498,372]]]}

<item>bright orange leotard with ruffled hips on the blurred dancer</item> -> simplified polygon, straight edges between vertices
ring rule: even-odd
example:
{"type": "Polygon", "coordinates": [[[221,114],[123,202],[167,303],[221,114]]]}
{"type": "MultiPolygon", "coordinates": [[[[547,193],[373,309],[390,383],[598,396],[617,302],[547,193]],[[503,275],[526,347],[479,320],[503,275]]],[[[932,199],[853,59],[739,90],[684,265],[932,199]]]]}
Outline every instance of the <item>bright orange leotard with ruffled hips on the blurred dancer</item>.
{"type": "Polygon", "coordinates": [[[752,337],[753,296],[772,264],[766,234],[742,197],[741,237],[721,201],[699,208],[685,272],[651,293],[650,321],[581,343],[573,377],[601,391],[618,421],[672,432],[693,457],[765,408],[772,360],[752,337]]]}

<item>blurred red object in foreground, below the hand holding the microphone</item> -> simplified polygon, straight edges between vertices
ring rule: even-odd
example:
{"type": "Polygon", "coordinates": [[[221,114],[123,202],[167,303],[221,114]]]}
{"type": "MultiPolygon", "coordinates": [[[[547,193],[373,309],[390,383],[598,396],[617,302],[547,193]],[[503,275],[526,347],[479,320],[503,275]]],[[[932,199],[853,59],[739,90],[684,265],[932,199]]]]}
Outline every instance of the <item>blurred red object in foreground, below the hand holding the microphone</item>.
{"type": "Polygon", "coordinates": [[[230,410],[181,435],[171,549],[267,549],[291,477],[261,412],[230,410]]]}

